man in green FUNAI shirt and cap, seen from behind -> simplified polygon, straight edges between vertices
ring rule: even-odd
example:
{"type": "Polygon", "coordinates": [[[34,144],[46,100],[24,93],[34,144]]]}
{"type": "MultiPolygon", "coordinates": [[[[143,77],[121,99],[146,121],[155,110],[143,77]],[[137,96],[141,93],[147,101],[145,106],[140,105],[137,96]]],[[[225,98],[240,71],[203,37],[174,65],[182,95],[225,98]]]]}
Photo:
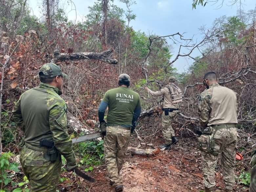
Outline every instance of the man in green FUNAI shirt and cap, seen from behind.
{"type": "Polygon", "coordinates": [[[141,112],[139,94],[130,90],[130,76],[121,74],[118,77],[118,88],[108,90],[100,103],[98,116],[104,137],[104,155],[109,173],[110,185],[116,192],[123,191],[120,178],[125,153],[130,135],[141,112]],[[105,110],[108,106],[106,122],[105,110]]]}

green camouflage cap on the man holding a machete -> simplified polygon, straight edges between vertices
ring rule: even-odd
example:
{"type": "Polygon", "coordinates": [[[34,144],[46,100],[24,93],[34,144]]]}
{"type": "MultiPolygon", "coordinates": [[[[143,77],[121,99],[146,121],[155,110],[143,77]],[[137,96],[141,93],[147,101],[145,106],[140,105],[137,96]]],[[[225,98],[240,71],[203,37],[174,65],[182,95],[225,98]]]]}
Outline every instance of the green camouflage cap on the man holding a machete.
{"type": "Polygon", "coordinates": [[[68,75],[61,72],[59,66],[54,63],[46,63],[39,69],[40,78],[46,79],[61,75],[64,79],[68,78],[68,75]]]}

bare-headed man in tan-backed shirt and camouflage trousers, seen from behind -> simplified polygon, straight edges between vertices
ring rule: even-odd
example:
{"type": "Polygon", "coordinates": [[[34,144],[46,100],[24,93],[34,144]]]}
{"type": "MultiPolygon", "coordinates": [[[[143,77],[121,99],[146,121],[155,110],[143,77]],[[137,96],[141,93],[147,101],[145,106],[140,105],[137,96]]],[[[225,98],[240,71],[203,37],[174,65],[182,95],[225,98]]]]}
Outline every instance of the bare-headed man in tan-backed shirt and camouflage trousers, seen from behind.
{"type": "Polygon", "coordinates": [[[235,183],[235,156],[237,144],[237,97],[231,89],[217,83],[217,75],[208,72],[204,75],[207,89],[199,100],[199,124],[205,128],[198,139],[199,146],[207,143],[202,150],[203,185],[205,192],[215,186],[215,166],[218,154],[221,155],[225,191],[233,191],[235,183]],[[206,139],[205,139],[206,138],[206,139]],[[209,138],[212,142],[209,142],[209,138]],[[205,142],[204,142],[205,141],[205,142]],[[214,142],[215,145],[214,145],[214,142]],[[213,146],[214,145],[214,146],[213,146]]]}

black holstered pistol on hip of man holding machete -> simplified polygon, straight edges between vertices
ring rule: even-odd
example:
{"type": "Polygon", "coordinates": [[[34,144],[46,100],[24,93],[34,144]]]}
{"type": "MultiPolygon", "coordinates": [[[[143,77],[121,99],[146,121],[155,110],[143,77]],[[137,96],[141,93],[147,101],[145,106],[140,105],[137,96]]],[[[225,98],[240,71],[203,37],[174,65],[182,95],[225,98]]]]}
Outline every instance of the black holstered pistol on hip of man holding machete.
{"type": "Polygon", "coordinates": [[[57,160],[58,150],[54,146],[54,142],[53,141],[49,141],[47,139],[41,139],[40,140],[40,146],[48,148],[47,153],[44,154],[44,158],[46,160],[50,160],[52,162],[57,160]]]}

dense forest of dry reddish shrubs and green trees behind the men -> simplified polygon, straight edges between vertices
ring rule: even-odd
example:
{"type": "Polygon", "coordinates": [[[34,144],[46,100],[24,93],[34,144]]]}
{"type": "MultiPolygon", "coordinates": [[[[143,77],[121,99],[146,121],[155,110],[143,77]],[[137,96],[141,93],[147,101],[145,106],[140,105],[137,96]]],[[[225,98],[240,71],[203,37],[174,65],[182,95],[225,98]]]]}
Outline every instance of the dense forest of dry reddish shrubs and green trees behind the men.
{"type": "MultiPolygon", "coordinates": [[[[28,180],[23,177],[13,156],[20,150],[23,133],[12,121],[11,110],[23,92],[39,84],[39,68],[51,61],[69,75],[64,82],[63,98],[70,115],[91,131],[96,130],[97,107],[104,93],[117,87],[119,74],[131,76],[131,89],[140,94],[145,112],[139,121],[138,134],[133,136],[133,146],[138,146],[141,138],[144,143],[154,143],[154,135],[160,134],[162,100],[149,96],[143,88],[148,86],[159,90],[169,76],[176,76],[183,91],[183,101],[179,106],[181,113],[175,122],[176,134],[196,139],[192,130],[198,126],[197,98],[205,89],[203,75],[215,71],[220,84],[239,95],[238,150],[244,155],[244,160],[238,165],[238,181],[240,188],[248,186],[248,162],[256,140],[256,7],[244,11],[246,1],[237,0],[187,2],[192,4],[191,10],[195,12],[204,6],[238,8],[236,15],[220,15],[211,25],[202,23],[198,30],[200,37],[195,37],[175,30],[170,34],[154,34],[150,29],[149,32],[136,31],[131,25],[136,21],[133,12],[136,1],[116,2],[96,0],[88,7],[87,15],[71,21],[67,16],[69,10],[64,9],[59,0],[38,1],[40,13],[37,14],[33,14],[27,0],[0,0],[1,190],[28,189],[28,180]],[[119,7],[120,4],[125,8],[119,7]],[[76,53],[86,55],[85,52],[104,53],[106,50],[109,50],[106,55],[100,57],[117,59],[117,64],[102,58],[70,57],[76,53]],[[58,60],[56,53],[68,57],[58,60]],[[187,60],[186,70],[177,67],[176,63],[187,60]]],[[[71,0],[65,3],[71,5],[70,11],[73,12],[76,12],[76,6],[81,6],[71,0]]],[[[72,125],[69,128],[72,137],[85,134],[72,125]]],[[[101,166],[104,161],[102,148],[102,141],[75,146],[79,166],[87,172],[101,166]]],[[[61,182],[67,180],[70,180],[68,176],[61,177],[61,182]]]]}

